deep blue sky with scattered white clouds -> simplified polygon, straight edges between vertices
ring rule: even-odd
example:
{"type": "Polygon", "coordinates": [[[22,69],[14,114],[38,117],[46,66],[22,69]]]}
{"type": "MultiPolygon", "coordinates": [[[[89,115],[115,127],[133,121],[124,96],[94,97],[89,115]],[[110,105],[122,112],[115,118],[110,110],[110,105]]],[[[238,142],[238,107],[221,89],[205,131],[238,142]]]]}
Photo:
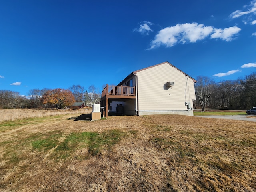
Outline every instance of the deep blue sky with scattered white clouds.
{"type": "Polygon", "coordinates": [[[0,90],[116,85],[168,61],[236,80],[256,71],[256,0],[1,0],[0,90]]]}

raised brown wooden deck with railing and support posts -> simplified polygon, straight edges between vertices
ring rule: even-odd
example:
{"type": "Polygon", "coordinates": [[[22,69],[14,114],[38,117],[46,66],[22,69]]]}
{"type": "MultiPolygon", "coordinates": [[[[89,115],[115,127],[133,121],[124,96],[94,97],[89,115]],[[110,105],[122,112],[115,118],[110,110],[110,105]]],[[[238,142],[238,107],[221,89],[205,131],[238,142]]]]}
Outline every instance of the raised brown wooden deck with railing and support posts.
{"type": "Polygon", "coordinates": [[[104,116],[108,117],[108,108],[109,101],[121,101],[128,99],[136,99],[135,96],[135,87],[127,87],[127,86],[113,86],[108,85],[104,88],[101,93],[101,106],[105,106],[104,108],[104,116]]]}

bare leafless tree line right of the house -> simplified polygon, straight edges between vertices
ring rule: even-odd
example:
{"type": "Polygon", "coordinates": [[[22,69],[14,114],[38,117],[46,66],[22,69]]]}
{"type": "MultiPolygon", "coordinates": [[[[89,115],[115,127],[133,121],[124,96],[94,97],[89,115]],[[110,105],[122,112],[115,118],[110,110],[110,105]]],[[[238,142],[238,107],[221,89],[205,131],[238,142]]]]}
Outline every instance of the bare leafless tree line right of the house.
{"type": "Polygon", "coordinates": [[[214,82],[198,76],[195,84],[194,108],[226,108],[246,110],[256,106],[256,72],[237,80],[214,82]]]}

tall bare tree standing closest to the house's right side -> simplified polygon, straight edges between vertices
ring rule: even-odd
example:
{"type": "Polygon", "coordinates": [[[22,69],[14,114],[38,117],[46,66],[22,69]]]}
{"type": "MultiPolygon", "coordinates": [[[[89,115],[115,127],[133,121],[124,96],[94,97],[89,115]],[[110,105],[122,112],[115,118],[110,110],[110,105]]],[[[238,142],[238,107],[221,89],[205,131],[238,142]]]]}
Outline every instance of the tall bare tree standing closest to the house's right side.
{"type": "Polygon", "coordinates": [[[205,111],[206,104],[212,92],[213,81],[211,78],[206,76],[198,76],[195,86],[196,96],[202,107],[202,111],[205,111]]]}

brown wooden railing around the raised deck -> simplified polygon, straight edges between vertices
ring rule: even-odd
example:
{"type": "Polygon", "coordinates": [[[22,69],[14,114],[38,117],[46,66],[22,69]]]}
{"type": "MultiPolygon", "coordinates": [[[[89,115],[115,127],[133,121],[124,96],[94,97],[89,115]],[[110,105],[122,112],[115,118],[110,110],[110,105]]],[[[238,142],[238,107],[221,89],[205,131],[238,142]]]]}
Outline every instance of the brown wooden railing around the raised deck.
{"type": "Polygon", "coordinates": [[[135,87],[126,87],[126,86],[113,86],[108,85],[102,91],[101,97],[106,95],[116,95],[116,96],[135,96],[135,87]]]}

